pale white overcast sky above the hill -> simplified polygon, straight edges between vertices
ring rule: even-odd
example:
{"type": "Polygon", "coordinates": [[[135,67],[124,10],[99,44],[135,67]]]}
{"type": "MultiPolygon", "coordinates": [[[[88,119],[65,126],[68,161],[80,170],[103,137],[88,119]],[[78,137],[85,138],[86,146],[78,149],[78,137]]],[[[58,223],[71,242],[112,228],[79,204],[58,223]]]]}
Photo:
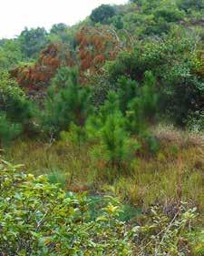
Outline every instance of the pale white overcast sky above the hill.
{"type": "Polygon", "coordinates": [[[0,38],[18,36],[24,27],[82,21],[92,9],[102,4],[121,5],[128,0],[0,0],[0,38]]]}

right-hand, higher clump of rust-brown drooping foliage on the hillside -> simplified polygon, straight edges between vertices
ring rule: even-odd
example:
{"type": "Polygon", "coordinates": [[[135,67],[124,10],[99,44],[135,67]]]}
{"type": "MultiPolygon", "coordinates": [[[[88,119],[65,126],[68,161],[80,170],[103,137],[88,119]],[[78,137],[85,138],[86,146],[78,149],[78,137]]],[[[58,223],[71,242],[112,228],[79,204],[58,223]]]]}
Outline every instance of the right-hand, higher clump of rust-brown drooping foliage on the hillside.
{"type": "Polygon", "coordinates": [[[117,36],[106,26],[85,26],[76,36],[78,42],[78,57],[81,69],[81,81],[87,82],[85,72],[99,74],[106,60],[112,60],[122,49],[117,36]]]}

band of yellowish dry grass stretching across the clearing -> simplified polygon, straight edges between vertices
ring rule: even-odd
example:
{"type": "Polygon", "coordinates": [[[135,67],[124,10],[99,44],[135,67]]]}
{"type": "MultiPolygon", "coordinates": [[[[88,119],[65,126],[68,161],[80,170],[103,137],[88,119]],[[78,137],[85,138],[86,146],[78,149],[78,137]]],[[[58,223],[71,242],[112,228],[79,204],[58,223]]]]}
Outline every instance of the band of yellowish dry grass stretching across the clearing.
{"type": "Polygon", "coordinates": [[[25,170],[35,174],[63,173],[67,189],[111,192],[144,209],[155,201],[192,200],[204,212],[203,137],[170,129],[154,133],[160,140],[159,152],[135,159],[129,175],[109,169],[112,183],[106,179],[106,169],[92,164],[87,145],[16,141],[5,157],[24,163],[25,170]]]}

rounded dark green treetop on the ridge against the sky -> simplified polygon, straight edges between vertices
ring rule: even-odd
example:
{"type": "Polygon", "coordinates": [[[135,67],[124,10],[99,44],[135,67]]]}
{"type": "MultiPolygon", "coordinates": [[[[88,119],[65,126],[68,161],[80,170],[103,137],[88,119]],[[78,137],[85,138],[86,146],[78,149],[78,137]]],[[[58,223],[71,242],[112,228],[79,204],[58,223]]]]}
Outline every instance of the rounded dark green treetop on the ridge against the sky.
{"type": "Polygon", "coordinates": [[[92,11],[90,18],[94,23],[105,24],[113,15],[115,15],[115,9],[112,5],[100,5],[92,11]]]}

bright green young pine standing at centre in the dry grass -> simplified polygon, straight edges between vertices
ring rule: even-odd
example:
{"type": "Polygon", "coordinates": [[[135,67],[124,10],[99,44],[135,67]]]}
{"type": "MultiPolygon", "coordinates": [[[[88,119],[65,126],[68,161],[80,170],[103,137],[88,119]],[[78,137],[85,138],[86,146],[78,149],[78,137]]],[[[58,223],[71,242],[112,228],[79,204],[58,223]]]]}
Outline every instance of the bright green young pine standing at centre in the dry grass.
{"type": "Polygon", "coordinates": [[[125,118],[119,110],[119,100],[110,92],[97,115],[87,122],[89,137],[96,143],[92,157],[112,169],[128,169],[139,144],[125,129],[125,118]]]}

